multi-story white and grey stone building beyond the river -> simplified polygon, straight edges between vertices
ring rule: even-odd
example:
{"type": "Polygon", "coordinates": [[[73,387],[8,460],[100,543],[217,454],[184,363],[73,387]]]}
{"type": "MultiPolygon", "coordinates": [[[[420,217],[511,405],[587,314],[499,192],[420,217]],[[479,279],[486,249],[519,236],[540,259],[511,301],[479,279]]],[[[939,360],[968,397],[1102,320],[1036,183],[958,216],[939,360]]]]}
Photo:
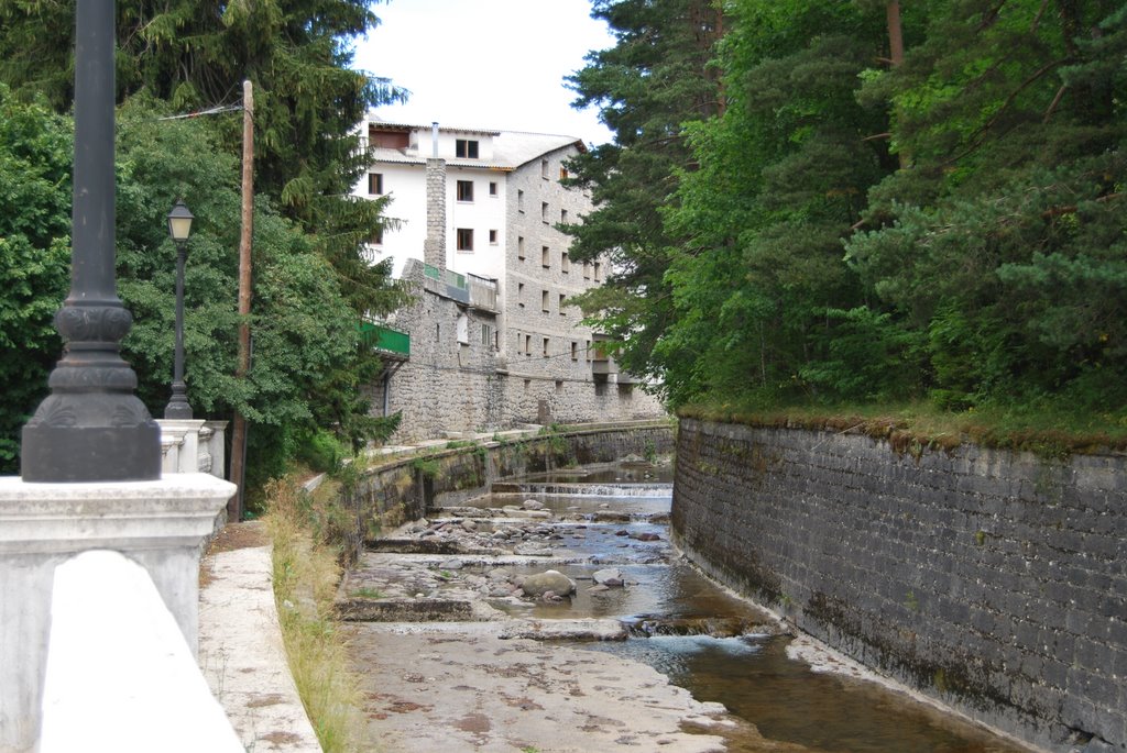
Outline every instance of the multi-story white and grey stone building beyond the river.
{"type": "Polygon", "coordinates": [[[376,118],[365,133],[372,162],[356,194],[389,196],[396,221],[371,259],[390,258],[418,292],[373,330],[384,344],[392,329],[410,337],[408,353],[384,348],[396,360],[374,395],[402,412],[402,439],[664,414],[569,303],[607,271],[601,259],[573,263],[560,230],[591,208],[564,183],[580,141],[376,118]]]}

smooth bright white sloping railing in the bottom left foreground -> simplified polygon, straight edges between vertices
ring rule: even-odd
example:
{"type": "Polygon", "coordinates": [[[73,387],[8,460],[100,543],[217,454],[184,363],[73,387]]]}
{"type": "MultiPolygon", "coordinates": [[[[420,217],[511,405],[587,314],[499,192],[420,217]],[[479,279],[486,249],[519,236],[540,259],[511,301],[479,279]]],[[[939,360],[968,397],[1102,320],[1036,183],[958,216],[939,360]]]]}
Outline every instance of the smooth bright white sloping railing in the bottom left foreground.
{"type": "Polygon", "coordinates": [[[145,570],[92,550],[55,568],[39,753],[243,753],[145,570]]]}

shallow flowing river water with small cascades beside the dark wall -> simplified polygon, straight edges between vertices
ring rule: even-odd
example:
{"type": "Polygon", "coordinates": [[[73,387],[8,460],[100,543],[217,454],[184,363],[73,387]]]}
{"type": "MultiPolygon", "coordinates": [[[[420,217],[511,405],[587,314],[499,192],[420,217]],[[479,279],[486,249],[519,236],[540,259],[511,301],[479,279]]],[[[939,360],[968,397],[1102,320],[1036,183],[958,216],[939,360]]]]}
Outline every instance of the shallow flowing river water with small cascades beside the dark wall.
{"type": "MultiPolygon", "coordinates": [[[[578,592],[570,601],[536,603],[521,613],[622,620],[630,626],[629,639],[579,645],[650,664],[698,699],[724,703],[770,741],[826,753],[1026,750],[873,682],[814,672],[788,658],[790,639],[767,634],[769,616],[672,550],[671,474],[668,467],[573,469],[498,484],[496,493],[479,500],[481,507],[503,507],[531,497],[569,519],[553,523],[553,550],[567,552],[577,564],[553,567],[576,580],[578,592]],[[622,572],[625,588],[592,591],[593,573],[609,566],[622,572]]],[[[730,735],[729,751],[766,750],[757,735],[730,735]]]]}

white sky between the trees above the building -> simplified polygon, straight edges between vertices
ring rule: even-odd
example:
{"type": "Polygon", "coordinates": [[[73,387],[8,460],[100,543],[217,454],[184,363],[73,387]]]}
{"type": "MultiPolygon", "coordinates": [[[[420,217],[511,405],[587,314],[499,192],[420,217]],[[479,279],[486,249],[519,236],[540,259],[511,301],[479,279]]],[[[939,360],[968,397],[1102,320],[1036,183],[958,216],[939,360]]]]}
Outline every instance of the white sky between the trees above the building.
{"type": "Polygon", "coordinates": [[[584,55],[614,45],[591,0],[390,0],[382,21],[357,41],[353,66],[410,90],[385,120],[577,136],[611,133],[594,109],[571,107],[564,77],[584,55]]]}

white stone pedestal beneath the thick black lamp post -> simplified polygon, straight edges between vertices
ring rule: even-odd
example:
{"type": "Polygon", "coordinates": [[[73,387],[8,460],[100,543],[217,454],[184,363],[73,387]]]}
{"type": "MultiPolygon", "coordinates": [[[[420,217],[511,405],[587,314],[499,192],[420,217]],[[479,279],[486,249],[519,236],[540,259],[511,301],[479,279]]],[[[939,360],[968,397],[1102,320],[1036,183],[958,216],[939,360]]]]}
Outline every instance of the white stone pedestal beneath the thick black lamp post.
{"type": "MultiPolygon", "coordinates": [[[[137,563],[195,655],[201,548],[234,492],[202,473],[97,484],[0,477],[0,753],[38,745],[55,568],[90,549],[137,563]]],[[[105,610],[99,618],[128,627],[128,615],[105,610]]]]}

